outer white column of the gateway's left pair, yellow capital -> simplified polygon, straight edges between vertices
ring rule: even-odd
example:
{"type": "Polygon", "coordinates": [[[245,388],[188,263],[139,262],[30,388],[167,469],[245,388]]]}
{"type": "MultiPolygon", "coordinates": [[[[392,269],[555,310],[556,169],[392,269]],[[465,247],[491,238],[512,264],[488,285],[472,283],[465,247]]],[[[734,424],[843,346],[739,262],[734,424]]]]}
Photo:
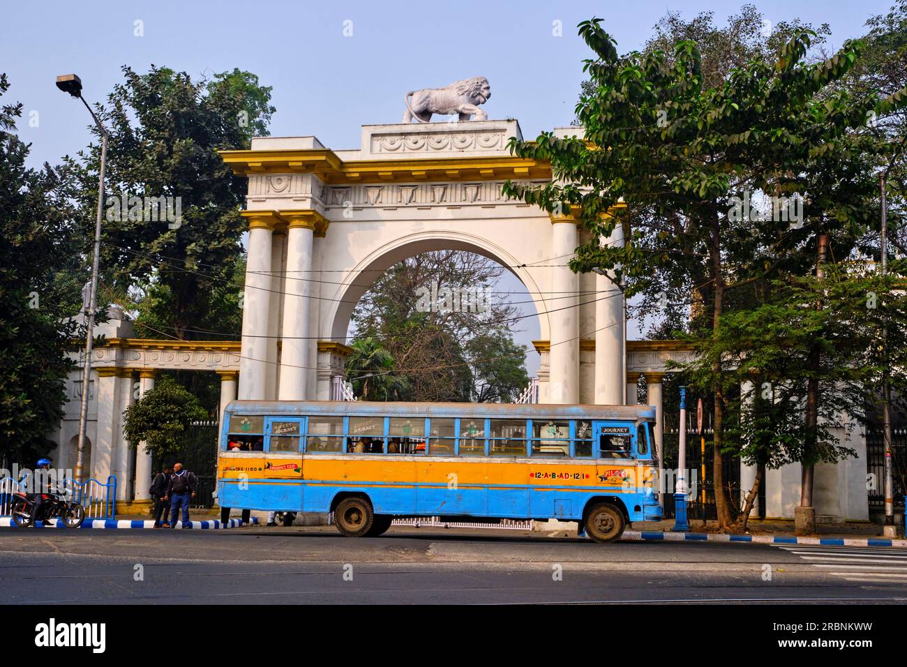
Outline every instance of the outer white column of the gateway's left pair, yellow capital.
{"type": "Polygon", "coordinates": [[[242,212],[249,218],[249,254],[243,294],[239,397],[264,400],[268,397],[271,235],[275,221],[268,211],[242,212]]]}

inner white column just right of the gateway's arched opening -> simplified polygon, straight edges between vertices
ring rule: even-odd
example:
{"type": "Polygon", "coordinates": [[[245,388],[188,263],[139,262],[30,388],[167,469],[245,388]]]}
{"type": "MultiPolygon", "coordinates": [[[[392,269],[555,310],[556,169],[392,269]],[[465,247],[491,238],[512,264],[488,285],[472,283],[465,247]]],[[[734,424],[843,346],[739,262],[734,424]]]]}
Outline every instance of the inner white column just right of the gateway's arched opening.
{"type": "Polygon", "coordinates": [[[579,281],[570,267],[577,246],[577,221],[570,217],[551,218],[551,321],[550,394],[551,403],[574,404],[580,400],[580,313],[577,308],[579,281]]]}

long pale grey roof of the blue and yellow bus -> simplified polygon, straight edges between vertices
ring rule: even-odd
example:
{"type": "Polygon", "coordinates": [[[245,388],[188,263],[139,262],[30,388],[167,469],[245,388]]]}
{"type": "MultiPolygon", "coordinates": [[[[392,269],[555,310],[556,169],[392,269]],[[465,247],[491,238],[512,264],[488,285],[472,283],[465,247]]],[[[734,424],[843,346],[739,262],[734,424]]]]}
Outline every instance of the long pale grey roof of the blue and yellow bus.
{"type": "Polygon", "coordinates": [[[387,415],[389,417],[536,417],[578,419],[655,419],[655,407],[556,405],[544,403],[408,403],[379,401],[249,401],[237,400],[227,411],[246,415],[387,415]]]}

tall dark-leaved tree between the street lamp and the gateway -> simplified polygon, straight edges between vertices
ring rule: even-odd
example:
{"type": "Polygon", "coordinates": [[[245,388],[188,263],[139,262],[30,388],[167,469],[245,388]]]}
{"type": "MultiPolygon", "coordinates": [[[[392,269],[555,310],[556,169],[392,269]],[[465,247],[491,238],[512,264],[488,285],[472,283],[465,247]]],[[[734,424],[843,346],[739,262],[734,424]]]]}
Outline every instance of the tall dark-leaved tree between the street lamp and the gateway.
{"type": "MultiPolygon", "coordinates": [[[[243,255],[239,210],[247,183],[217,151],[248,149],[253,136],[268,133],[271,89],[239,70],[199,82],[167,67],[122,72],[124,83],[107,106],[97,106],[110,132],[101,260],[107,294],[130,309],[148,299],[138,304],[139,322],[162,329],[159,336],[239,334],[239,290],[231,294],[224,286],[235,284],[243,255]],[[130,197],[172,197],[171,218],[180,212],[179,220],[162,219],[143,207],[147,201],[130,197]],[[225,310],[232,314],[225,317],[225,310]]],[[[78,174],[86,238],[99,154],[93,144],[79,159],[67,158],[78,174]]]]}

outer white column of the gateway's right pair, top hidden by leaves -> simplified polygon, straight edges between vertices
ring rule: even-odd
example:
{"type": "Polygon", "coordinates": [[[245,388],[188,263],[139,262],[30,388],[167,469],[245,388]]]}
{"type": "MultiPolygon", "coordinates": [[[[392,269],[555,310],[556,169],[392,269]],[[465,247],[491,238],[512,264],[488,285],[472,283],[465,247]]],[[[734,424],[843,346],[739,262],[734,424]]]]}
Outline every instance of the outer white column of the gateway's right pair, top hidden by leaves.
{"type": "MultiPolygon", "coordinates": [[[[602,239],[601,244],[622,248],[623,227],[615,227],[610,238],[602,239]]],[[[620,387],[624,383],[627,324],[623,292],[613,271],[608,271],[607,276],[596,274],[595,292],[595,402],[619,406],[624,402],[620,387]]]]}

